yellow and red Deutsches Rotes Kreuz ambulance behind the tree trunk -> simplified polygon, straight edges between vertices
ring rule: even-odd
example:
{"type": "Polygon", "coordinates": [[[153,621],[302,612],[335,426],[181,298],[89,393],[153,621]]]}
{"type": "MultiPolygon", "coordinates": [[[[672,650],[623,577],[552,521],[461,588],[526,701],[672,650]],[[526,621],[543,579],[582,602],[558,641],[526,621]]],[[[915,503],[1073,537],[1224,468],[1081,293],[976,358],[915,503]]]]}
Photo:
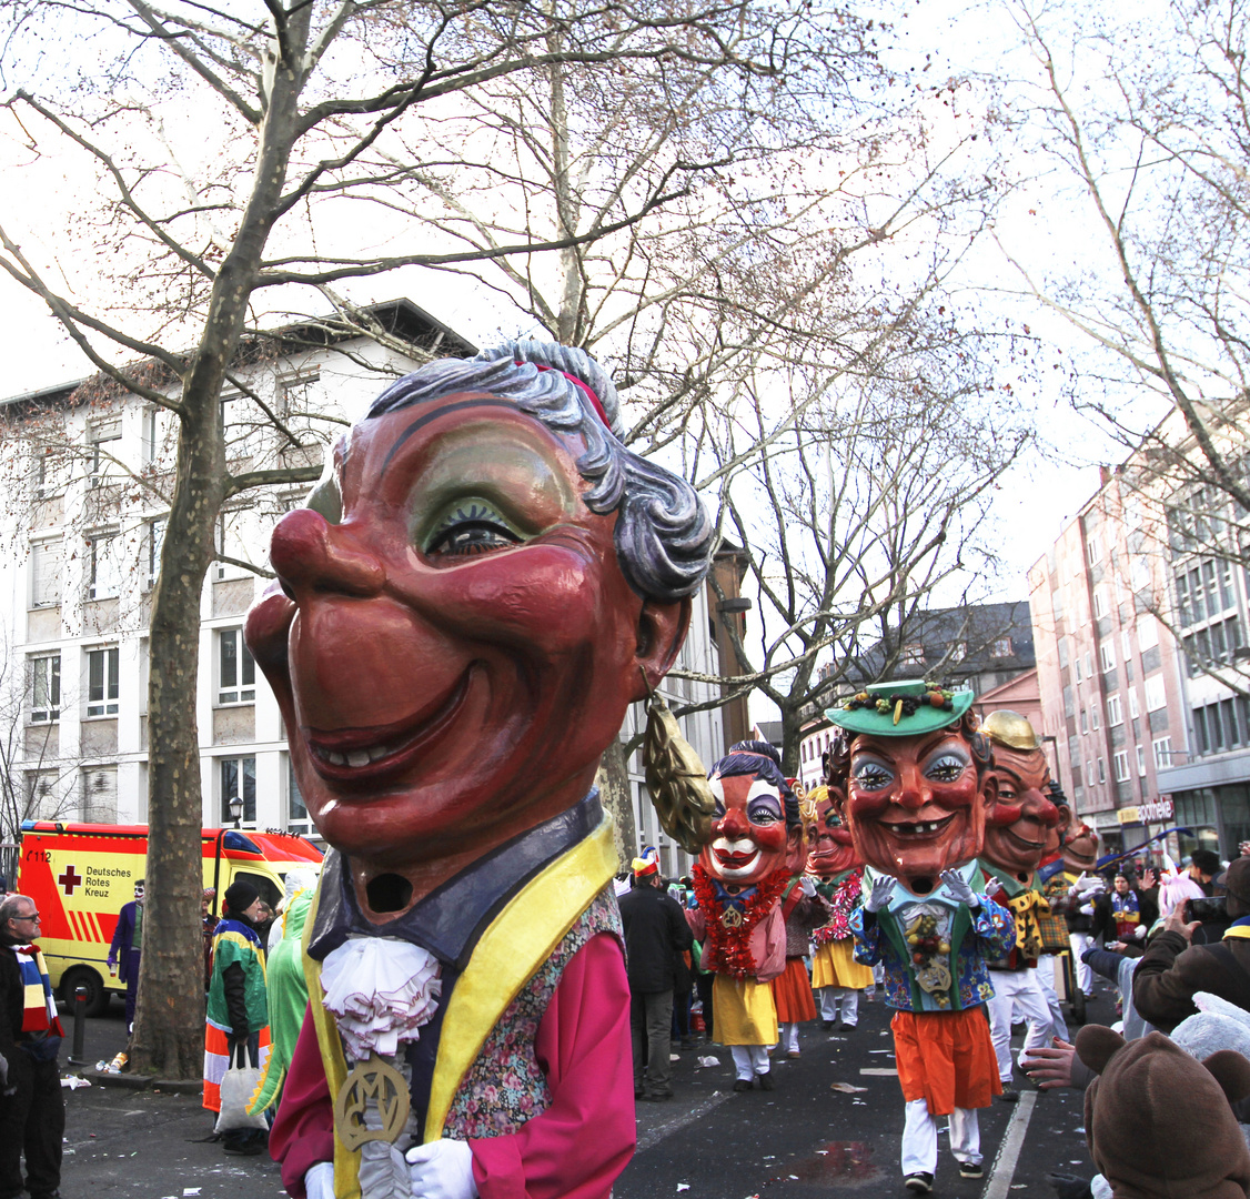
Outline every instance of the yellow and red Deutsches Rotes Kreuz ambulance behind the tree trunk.
{"type": "MultiPolygon", "coordinates": [[[[214,915],[221,914],[231,883],[250,883],[272,908],[288,871],[321,869],[321,850],[294,833],[204,829],[200,844],[202,878],[189,885],[196,898],[204,888],[216,889],[214,915]]],[[[146,875],[146,824],[22,823],[18,890],[39,908],[39,946],[52,986],[66,1001],[85,986],[88,1015],[104,1013],[110,994],[125,994],[106,959],[121,905],[135,898],[135,883],[146,875]]]]}

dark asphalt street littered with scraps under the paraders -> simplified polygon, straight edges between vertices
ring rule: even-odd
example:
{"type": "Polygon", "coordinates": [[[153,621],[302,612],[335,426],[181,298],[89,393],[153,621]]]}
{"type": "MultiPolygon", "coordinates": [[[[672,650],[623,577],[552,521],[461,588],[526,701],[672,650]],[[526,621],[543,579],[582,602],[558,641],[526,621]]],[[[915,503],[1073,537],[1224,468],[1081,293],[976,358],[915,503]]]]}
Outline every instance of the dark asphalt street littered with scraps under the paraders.
{"type": "MultiPolygon", "coordinates": [[[[1090,1019],[1114,1020],[1112,1003],[1100,993],[1090,1019]]],[[[638,1154],[614,1188],[615,1199],[904,1195],[902,1098],[892,1073],[889,1013],[880,1003],[861,1004],[860,1013],[850,1031],[806,1025],[801,1056],[776,1061],[771,1093],[735,1093],[729,1051],[720,1046],[681,1053],[674,1063],[674,1098],[639,1104],[638,1154]],[[718,1064],[700,1065],[699,1058],[708,1056],[718,1064]],[[864,1089],[841,1091],[834,1084],[864,1089]]],[[[111,1058],[124,1044],[120,1004],[88,1021],[88,1061],[111,1058]]],[[[94,1078],[90,1068],[70,1066],[68,1051],[62,1075],[94,1078]]],[[[1019,1104],[995,1103],[981,1113],[985,1179],[960,1179],[942,1138],[935,1194],[1051,1199],[1050,1171],[1094,1173],[1081,1095],[1042,1094],[1022,1080],[1021,1086],[1019,1104]]],[[[65,1096],[66,1199],[261,1199],[282,1193],[268,1156],[228,1156],[206,1139],[211,1119],[198,1095],[96,1080],[65,1096]]]]}

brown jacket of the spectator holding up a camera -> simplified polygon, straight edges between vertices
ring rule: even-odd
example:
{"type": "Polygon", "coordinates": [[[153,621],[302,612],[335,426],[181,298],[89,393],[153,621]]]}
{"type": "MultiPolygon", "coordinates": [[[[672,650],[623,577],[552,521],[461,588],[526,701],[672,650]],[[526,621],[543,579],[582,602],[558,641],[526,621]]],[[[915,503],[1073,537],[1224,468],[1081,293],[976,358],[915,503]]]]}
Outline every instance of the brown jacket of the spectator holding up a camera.
{"type": "Polygon", "coordinates": [[[1170,1033],[1198,1011],[1195,991],[1211,991],[1250,1011],[1250,940],[1190,945],[1180,933],[1159,933],[1132,975],[1134,1006],[1170,1033]]]}

